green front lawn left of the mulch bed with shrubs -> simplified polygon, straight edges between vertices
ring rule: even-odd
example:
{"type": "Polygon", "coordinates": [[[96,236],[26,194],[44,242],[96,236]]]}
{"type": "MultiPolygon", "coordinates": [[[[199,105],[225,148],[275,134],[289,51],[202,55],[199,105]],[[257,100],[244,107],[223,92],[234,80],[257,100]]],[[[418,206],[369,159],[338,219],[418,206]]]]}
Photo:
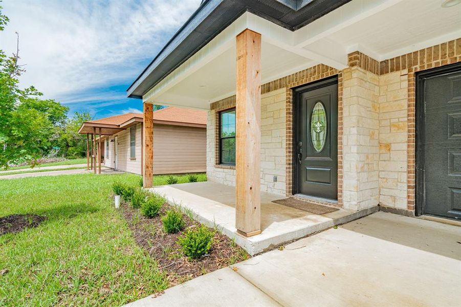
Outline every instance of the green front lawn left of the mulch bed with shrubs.
{"type": "Polygon", "coordinates": [[[0,181],[0,216],[46,215],[0,236],[0,305],[121,305],[168,287],[116,211],[111,185],[132,174],[0,181]]]}

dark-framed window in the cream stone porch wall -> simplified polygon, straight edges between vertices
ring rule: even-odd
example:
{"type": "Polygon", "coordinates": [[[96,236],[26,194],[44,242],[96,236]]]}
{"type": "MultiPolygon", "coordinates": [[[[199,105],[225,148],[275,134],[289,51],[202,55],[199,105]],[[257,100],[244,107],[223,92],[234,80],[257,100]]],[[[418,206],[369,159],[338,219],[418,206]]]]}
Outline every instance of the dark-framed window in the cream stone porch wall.
{"type": "Polygon", "coordinates": [[[235,108],[219,113],[219,164],[235,165],[235,108]]]}

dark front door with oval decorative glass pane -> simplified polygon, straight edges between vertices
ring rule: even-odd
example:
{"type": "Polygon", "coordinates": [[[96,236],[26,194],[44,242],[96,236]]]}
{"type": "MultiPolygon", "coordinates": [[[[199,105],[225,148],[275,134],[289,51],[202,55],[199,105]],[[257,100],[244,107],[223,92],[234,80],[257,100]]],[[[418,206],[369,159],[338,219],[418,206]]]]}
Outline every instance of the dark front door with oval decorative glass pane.
{"type": "Polygon", "coordinates": [[[294,193],[338,199],[338,79],[294,93],[294,193]]]}

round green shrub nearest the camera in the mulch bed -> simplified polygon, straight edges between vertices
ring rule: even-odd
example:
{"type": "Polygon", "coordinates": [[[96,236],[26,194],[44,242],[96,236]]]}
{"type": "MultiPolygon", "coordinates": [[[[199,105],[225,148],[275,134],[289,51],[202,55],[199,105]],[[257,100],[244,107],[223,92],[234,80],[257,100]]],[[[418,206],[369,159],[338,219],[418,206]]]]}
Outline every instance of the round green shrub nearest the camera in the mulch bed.
{"type": "Polygon", "coordinates": [[[178,239],[178,244],[189,258],[197,259],[208,253],[213,243],[213,232],[202,225],[186,231],[183,237],[178,239]]]}

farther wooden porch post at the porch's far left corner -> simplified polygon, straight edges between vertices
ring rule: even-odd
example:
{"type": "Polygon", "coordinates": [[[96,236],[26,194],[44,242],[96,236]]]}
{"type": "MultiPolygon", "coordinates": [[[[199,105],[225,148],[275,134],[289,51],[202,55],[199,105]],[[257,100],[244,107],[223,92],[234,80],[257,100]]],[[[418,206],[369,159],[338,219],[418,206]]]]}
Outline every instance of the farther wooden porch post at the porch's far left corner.
{"type": "Polygon", "coordinates": [[[153,106],[150,103],[143,103],[143,146],[144,146],[144,171],[143,186],[152,187],[153,176],[153,106]]]}

